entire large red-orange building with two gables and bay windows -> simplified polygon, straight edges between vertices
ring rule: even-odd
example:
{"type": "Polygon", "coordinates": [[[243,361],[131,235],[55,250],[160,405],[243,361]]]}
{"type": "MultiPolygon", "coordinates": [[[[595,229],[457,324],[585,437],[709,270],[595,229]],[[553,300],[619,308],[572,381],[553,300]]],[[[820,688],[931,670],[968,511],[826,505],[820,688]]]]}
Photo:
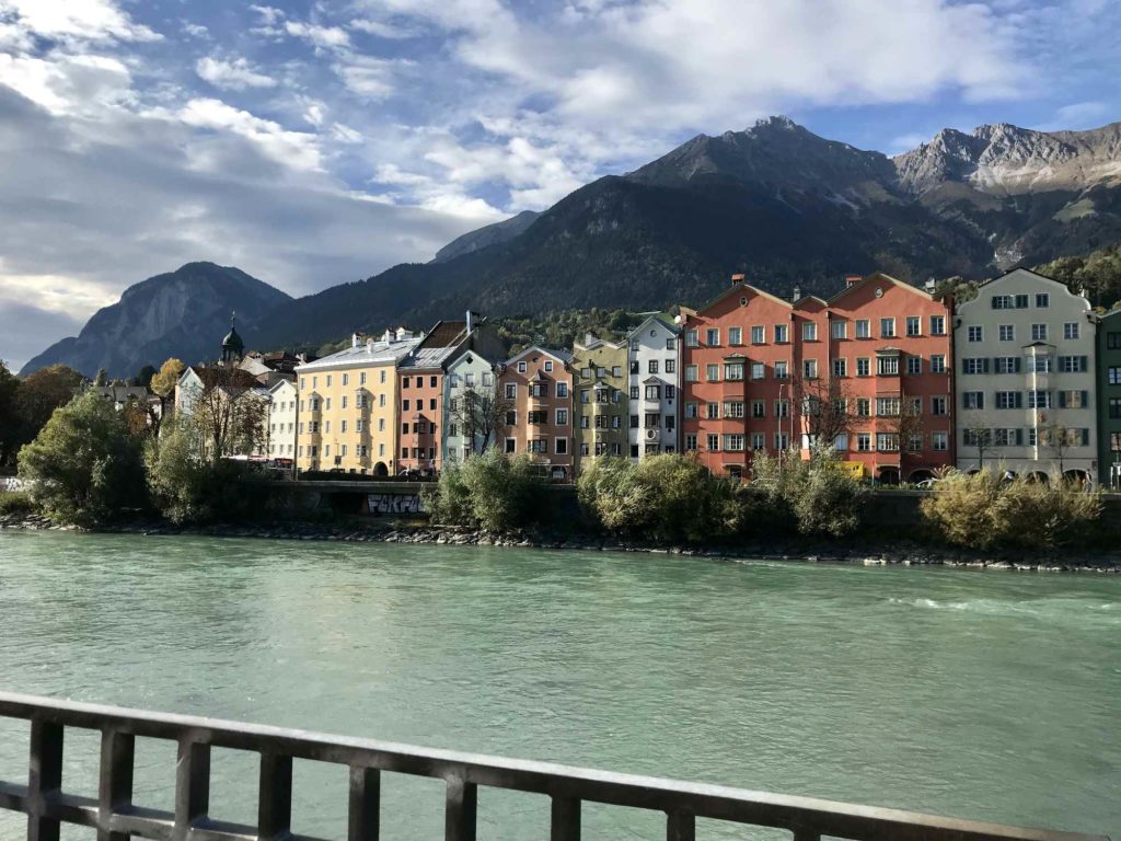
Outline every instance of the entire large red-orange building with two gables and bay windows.
{"type": "MultiPolygon", "coordinates": [[[[684,449],[714,473],[826,437],[880,481],[954,463],[952,304],[877,274],[787,302],[732,277],[682,309],[684,449]]],[[[859,468],[858,468],[859,465],[859,468]]]]}

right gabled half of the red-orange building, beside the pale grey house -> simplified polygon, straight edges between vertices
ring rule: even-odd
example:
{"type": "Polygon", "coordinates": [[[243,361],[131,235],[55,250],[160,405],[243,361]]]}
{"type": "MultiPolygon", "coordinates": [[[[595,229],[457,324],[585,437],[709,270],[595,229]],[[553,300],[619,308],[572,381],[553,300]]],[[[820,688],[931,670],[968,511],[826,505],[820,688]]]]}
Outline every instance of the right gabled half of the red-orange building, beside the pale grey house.
{"type": "MultiPolygon", "coordinates": [[[[794,444],[895,484],[954,464],[953,302],[877,272],[794,303],[794,444]]],[[[749,379],[749,382],[753,380],[749,379]]]]}

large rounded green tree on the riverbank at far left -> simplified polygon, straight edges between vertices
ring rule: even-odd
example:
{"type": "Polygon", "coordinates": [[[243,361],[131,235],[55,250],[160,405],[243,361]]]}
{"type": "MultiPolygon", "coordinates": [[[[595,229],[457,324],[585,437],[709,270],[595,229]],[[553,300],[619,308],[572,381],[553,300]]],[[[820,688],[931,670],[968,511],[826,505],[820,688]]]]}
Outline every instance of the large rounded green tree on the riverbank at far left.
{"type": "Polygon", "coordinates": [[[55,412],[19,453],[31,498],[59,524],[93,526],[146,502],[140,446],[94,391],[55,412]]]}

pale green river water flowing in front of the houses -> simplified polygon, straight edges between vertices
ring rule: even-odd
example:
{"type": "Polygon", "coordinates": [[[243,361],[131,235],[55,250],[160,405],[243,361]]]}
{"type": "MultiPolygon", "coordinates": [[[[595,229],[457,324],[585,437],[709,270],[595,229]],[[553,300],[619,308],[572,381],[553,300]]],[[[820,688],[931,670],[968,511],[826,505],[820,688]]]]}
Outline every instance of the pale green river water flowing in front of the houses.
{"type": "MultiPolygon", "coordinates": [[[[1121,576],[9,532],[0,628],[9,691],[1121,839],[1121,576]]],[[[0,722],[0,777],[26,730],[0,722]]],[[[170,808],[173,765],[140,741],[138,803],[170,808]]],[[[256,773],[215,750],[211,814],[252,823],[256,773]]],[[[343,837],[345,771],[295,785],[294,829],[343,837]]],[[[387,775],[382,815],[441,838],[443,784],[387,775]]],[[[480,793],[480,839],[547,820],[480,793]]],[[[586,839],[664,832],[585,807],[586,839]]]]}

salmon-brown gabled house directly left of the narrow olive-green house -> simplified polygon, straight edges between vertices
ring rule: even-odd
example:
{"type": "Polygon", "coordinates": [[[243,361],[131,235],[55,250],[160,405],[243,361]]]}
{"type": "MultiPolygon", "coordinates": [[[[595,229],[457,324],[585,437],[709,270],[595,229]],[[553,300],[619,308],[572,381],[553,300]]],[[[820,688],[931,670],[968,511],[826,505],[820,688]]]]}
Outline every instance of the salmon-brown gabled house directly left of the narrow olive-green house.
{"type": "Polygon", "coordinates": [[[572,479],[572,357],[534,345],[508,360],[499,377],[507,410],[502,452],[530,453],[553,479],[572,479]]]}

